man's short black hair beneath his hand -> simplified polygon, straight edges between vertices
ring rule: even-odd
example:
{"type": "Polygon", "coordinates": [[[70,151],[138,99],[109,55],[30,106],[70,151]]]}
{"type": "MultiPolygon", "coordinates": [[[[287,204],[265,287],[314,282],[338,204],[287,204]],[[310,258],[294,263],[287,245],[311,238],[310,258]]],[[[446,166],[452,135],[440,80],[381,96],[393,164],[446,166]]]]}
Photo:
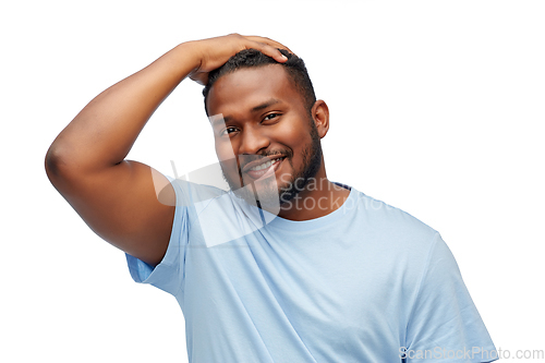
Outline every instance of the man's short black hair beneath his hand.
{"type": "Polygon", "coordinates": [[[286,70],[289,78],[293,82],[295,89],[300,93],[303,98],[305,108],[311,113],[311,109],[316,102],[316,95],[314,94],[314,87],[312,86],[311,77],[308,76],[308,71],[306,71],[305,63],[301,58],[295,55],[290,53],[284,49],[278,49],[282,55],[284,55],[288,60],[283,63],[277,62],[275,59],[265,56],[256,49],[244,49],[239,51],[237,55],[229,58],[227,63],[220,68],[211,71],[208,74],[208,83],[203,89],[205,111],[208,116],[208,110],[206,109],[206,100],[208,99],[208,93],[211,86],[219,77],[233,73],[240,69],[263,66],[267,64],[280,64],[286,70]]]}

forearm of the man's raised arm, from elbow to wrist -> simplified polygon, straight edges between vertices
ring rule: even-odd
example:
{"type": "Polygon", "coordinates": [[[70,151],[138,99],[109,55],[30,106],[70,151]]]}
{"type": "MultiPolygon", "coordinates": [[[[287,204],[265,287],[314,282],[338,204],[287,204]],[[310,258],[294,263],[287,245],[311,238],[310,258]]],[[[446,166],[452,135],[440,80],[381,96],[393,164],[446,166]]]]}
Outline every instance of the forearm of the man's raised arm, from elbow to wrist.
{"type": "Polygon", "coordinates": [[[192,50],[182,44],[99,94],[56,138],[49,164],[92,172],[122,161],[157,107],[199,65],[192,50]]]}

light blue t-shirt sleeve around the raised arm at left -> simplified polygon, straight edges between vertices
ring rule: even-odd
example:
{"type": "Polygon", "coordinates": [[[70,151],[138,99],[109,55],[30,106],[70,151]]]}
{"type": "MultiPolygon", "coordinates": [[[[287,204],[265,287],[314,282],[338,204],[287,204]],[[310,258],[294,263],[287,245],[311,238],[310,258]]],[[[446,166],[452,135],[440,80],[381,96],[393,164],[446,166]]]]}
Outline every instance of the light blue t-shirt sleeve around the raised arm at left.
{"type": "Polygon", "coordinates": [[[177,180],[171,180],[175,192],[175,211],[172,232],[167,252],[155,268],[125,253],[131,277],[140,283],[149,283],[172,295],[182,289],[184,278],[184,254],[187,245],[187,203],[186,195],[177,180]]]}

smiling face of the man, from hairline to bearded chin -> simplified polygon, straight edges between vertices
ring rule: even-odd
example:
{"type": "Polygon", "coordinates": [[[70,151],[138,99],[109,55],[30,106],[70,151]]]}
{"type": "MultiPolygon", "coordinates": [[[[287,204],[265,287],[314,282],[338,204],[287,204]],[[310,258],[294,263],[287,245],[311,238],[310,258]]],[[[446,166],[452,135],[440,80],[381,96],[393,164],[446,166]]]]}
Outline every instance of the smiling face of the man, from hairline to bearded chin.
{"type": "Polygon", "coordinates": [[[281,65],[221,76],[207,108],[223,177],[247,202],[286,203],[322,167],[316,126],[281,65]]]}

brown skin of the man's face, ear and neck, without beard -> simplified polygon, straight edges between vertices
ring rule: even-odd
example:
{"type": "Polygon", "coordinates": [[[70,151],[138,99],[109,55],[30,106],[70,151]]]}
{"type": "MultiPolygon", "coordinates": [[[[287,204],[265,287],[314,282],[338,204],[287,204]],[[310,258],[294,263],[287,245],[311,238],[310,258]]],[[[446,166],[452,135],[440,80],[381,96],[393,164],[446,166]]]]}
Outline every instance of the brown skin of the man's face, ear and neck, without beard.
{"type": "MultiPolygon", "coordinates": [[[[312,143],[308,111],[281,65],[243,69],[223,75],[210,88],[207,108],[208,114],[221,113],[226,120],[214,125],[219,160],[232,155],[292,155],[270,167],[279,186],[290,182],[302,169],[304,147],[312,143]]],[[[322,138],[329,130],[328,107],[325,101],[317,100],[311,112],[322,138]]],[[[243,160],[239,167],[242,167],[246,185],[255,179],[244,172],[243,160]]],[[[232,162],[223,169],[228,179],[239,178],[239,169],[232,162]]],[[[349,191],[327,180],[323,158],[314,178],[317,182],[302,189],[296,201],[280,206],[280,217],[314,219],[342,205],[349,191]]]]}

